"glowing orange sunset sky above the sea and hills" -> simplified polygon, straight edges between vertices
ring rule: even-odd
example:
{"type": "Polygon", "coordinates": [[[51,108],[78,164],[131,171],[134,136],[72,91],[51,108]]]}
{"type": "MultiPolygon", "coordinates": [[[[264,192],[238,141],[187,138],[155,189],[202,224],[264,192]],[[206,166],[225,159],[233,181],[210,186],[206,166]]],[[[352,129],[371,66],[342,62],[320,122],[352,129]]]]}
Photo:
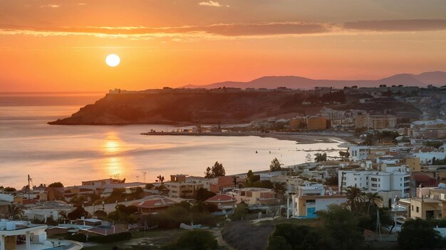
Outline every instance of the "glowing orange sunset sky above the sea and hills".
{"type": "Polygon", "coordinates": [[[0,92],[446,71],[445,13],[443,0],[0,0],[0,92]]]}

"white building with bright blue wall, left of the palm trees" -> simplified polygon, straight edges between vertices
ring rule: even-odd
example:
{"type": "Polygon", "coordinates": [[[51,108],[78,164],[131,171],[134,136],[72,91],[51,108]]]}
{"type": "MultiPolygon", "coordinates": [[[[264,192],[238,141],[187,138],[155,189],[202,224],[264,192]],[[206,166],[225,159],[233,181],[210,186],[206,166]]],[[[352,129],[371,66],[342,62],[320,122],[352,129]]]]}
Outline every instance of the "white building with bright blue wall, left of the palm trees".
{"type": "Polygon", "coordinates": [[[346,195],[327,193],[322,184],[306,183],[299,186],[295,195],[291,195],[292,217],[315,218],[316,212],[326,210],[328,205],[341,205],[347,202],[346,195]]]}

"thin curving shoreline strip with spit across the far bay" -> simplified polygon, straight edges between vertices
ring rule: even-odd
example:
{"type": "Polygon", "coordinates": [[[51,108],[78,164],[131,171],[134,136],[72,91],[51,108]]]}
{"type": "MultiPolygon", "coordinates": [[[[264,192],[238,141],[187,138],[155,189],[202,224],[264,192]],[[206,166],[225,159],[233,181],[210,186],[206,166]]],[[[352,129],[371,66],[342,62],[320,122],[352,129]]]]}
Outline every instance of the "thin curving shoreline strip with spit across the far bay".
{"type": "Polygon", "coordinates": [[[141,133],[147,136],[259,136],[264,138],[276,138],[279,140],[296,141],[299,144],[312,143],[332,143],[341,141],[343,146],[348,147],[356,144],[355,138],[351,134],[343,133],[321,133],[321,134],[302,134],[302,133],[261,133],[261,132],[209,132],[209,133],[188,133],[188,132],[153,132],[141,133]]]}

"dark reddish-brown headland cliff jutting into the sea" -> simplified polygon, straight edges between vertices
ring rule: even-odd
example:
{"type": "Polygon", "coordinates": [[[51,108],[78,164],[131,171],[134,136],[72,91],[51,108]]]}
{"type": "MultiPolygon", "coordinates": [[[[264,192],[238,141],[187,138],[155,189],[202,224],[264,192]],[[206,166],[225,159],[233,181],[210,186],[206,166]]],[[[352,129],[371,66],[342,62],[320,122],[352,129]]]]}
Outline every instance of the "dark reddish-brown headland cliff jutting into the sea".
{"type": "Polygon", "coordinates": [[[301,102],[289,92],[106,94],[48,124],[239,124],[304,112],[301,102]]]}

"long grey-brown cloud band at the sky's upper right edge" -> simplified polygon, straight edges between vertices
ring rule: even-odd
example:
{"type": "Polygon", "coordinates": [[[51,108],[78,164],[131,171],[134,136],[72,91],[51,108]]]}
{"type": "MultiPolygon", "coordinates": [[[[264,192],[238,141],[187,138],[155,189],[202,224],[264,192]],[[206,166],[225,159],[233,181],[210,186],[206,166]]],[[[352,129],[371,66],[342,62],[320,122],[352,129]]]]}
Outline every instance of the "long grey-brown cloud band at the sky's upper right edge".
{"type": "Polygon", "coordinates": [[[445,19],[407,19],[383,21],[356,21],[343,24],[344,28],[361,31],[442,31],[445,19]]]}

